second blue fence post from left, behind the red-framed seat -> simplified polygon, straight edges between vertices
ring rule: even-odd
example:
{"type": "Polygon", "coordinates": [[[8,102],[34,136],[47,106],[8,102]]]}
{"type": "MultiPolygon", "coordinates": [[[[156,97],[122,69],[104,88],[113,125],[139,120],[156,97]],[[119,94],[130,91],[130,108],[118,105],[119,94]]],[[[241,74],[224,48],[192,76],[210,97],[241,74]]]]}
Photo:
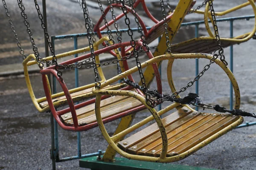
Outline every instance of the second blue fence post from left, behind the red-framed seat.
{"type": "MultiPolygon", "coordinates": [[[[77,37],[74,37],[74,49],[78,49],[77,37]]],[[[78,57],[78,54],[75,54],[75,58],[78,57]]],[[[77,62],[76,62],[77,63],[77,62]]],[[[79,77],[78,77],[78,68],[75,68],[75,85],[76,88],[79,87],[79,77]]],[[[77,132],[77,155],[81,156],[81,133],[77,132]]]]}

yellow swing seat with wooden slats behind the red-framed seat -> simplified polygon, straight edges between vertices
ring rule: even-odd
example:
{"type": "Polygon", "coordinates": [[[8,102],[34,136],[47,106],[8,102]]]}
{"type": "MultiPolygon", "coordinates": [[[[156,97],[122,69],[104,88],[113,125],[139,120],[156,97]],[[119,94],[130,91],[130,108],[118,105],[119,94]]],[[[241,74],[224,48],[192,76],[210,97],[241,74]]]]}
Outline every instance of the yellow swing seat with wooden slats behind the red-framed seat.
{"type": "MultiPolygon", "coordinates": [[[[101,45],[102,42],[104,42],[104,41],[108,42],[109,38],[108,37],[102,37],[99,41],[95,42],[94,45],[93,45],[94,50],[98,50],[99,45],[101,45]]],[[[110,41],[110,43],[112,43],[112,42],[110,41]]],[[[80,48],[78,50],[73,50],[73,51],[62,53],[62,54],[58,54],[58,55],[56,55],[56,57],[57,58],[68,57],[68,56],[83,53],[83,52],[86,52],[86,51],[90,51],[89,46],[85,47],[85,48],[80,48]]],[[[116,56],[120,57],[119,51],[117,49],[115,50],[115,52],[117,54],[116,56]]],[[[47,61],[51,61],[52,56],[46,57],[44,59],[46,59],[47,61]]],[[[96,56],[96,62],[99,63],[99,56],[96,56]]],[[[38,64],[38,63],[36,62],[36,58],[35,58],[34,54],[30,54],[23,61],[23,70],[24,70],[24,75],[25,75],[25,79],[26,79],[26,85],[27,85],[27,88],[29,90],[29,94],[30,94],[30,97],[32,99],[32,102],[34,103],[37,110],[39,112],[46,112],[46,111],[50,110],[47,99],[46,99],[46,97],[41,97],[41,98],[36,98],[35,97],[35,94],[34,94],[34,91],[33,91],[33,88],[32,88],[31,82],[30,82],[30,78],[29,78],[28,67],[31,66],[31,65],[35,65],[35,64],[38,64]]],[[[122,63],[120,65],[122,67],[122,63]]],[[[106,80],[101,68],[99,68],[99,76],[101,78],[101,82],[104,82],[106,80]]],[[[47,82],[48,82],[48,85],[49,85],[48,78],[47,78],[47,82]]],[[[92,94],[91,91],[92,91],[92,88],[94,87],[94,85],[95,85],[94,83],[91,83],[91,84],[84,85],[84,86],[81,86],[81,87],[78,87],[78,88],[70,89],[69,92],[70,92],[70,95],[72,96],[73,102],[78,102],[78,101],[93,97],[93,94],[92,94]]],[[[109,85],[108,87],[105,87],[105,88],[106,89],[120,89],[120,88],[124,88],[126,86],[127,85],[125,83],[116,83],[115,85],[109,85]]],[[[53,101],[53,104],[54,104],[55,107],[60,107],[60,106],[63,106],[63,105],[67,105],[67,98],[66,98],[64,92],[57,93],[57,94],[52,94],[52,101],[53,101]]]]}

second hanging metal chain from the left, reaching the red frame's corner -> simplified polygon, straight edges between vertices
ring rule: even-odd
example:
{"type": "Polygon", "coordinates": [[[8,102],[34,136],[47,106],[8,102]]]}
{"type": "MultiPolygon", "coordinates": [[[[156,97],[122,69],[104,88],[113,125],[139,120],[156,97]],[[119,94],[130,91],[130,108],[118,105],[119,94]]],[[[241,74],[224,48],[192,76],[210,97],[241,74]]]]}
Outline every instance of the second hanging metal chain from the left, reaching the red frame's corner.
{"type": "Polygon", "coordinates": [[[42,58],[39,56],[39,52],[38,52],[38,48],[37,46],[35,45],[35,41],[34,41],[34,38],[32,37],[32,31],[30,29],[30,25],[29,25],[29,22],[27,20],[27,15],[25,13],[25,7],[23,6],[23,3],[22,3],[22,0],[17,0],[17,3],[18,3],[18,6],[20,8],[20,11],[21,11],[21,16],[24,18],[24,25],[26,26],[26,31],[27,33],[29,34],[29,39],[30,39],[30,42],[33,46],[33,51],[34,51],[34,54],[35,54],[35,58],[38,62],[38,66],[40,69],[43,69],[44,68],[44,63],[42,62],[42,58]]]}

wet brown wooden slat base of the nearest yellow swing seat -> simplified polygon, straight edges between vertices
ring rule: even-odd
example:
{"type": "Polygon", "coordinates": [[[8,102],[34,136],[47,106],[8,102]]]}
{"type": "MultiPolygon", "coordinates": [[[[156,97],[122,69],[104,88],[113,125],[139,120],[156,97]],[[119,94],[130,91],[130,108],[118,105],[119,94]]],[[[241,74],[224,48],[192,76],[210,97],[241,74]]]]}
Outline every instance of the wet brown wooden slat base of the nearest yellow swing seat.
{"type": "MultiPolygon", "coordinates": [[[[238,120],[239,116],[231,114],[200,113],[190,110],[184,112],[183,109],[166,116],[162,119],[168,139],[166,157],[186,153],[192,147],[238,120]]],[[[117,146],[134,155],[159,157],[162,150],[162,138],[157,124],[154,123],[118,142],[117,146]]]]}

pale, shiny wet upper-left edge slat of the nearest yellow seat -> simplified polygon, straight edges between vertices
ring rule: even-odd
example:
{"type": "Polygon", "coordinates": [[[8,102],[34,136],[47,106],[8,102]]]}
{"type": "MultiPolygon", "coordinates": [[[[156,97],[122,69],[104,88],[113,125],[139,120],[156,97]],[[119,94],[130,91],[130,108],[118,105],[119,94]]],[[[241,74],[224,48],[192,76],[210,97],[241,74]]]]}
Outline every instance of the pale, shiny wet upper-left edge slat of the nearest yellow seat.
{"type": "MultiPolygon", "coordinates": [[[[184,107],[186,108],[186,107],[184,107]]],[[[187,108],[186,108],[187,109],[187,108]]],[[[168,126],[174,122],[176,122],[179,119],[182,119],[183,117],[187,116],[192,111],[188,109],[187,112],[184,112],[183,109],[179,109],[178,111],[172,113],[172,116],[167,116],[163,119],[164,126],[168,126]]],[[[134,144],[137,144],[144,139],[148,138],[149,136],[153,135],[154,133],[157,133],[159,131],[159,128],[157,124],[152,124],[145,129],[141,130],[138,133],[135,133],[134,135],[126,138],[125,140],[118,142],[118,147],[120,147],[122,150],[127,150],[129,147],[134,146],[134,144]]]]}

